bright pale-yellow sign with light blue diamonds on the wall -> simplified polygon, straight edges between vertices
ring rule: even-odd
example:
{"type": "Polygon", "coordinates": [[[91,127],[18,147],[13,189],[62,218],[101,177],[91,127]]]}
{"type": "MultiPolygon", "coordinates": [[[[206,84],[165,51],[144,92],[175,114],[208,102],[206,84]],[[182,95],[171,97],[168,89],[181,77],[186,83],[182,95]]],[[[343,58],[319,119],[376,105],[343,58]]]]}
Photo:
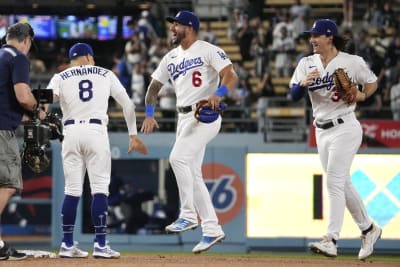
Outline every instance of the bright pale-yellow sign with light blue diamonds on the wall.
{"type": "MultiPolygon", "coordinates": [[[[356,155],[351,179],[382,238],[400,239],[400,155],[356,155]]],[[[326,233],[329,199],[322,185],[322,219],[315,218],[314,176],[324,175],[317,154],[251,153],[246,159],[247,237],[319,238],[326,233]]],[[[345,211],[341,238],[360,230],[345,211]]]]}

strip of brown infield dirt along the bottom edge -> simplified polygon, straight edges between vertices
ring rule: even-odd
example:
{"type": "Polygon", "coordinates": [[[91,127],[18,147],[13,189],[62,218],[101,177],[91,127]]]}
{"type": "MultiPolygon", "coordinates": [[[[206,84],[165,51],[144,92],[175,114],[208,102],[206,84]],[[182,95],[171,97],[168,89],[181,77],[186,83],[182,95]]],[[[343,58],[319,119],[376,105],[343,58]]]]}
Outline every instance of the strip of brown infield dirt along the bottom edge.
{"type": "Polygon", "coordinates": [[[29,267],[47,267],[47,266],[59,266],[59,267],[122,267],[122,266],[134,266],[134,267],[147,267],[147,266],[216,266],[216,267],[399,267],[400,257],[396,258],[375,258],[372,257],[366,262],[360,262],[357,259],[329,259],[322,256],[272,256],[272,255],[192,255],[192,254],[181,254],[181,255],[170,255],[170,254],[126,254],[122,255],[120,259],[34,259],[28,258],[23,261],[0,261],[0,266],[29,266],[29,267]]]}

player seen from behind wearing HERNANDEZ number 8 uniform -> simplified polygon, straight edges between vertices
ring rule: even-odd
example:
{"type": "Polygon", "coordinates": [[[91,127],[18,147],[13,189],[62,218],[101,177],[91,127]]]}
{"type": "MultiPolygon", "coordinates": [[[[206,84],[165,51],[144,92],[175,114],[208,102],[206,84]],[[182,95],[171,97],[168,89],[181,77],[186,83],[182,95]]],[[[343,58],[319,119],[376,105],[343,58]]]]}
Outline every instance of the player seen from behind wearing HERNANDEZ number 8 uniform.
{"type": "Polygon", "coordinates": [[[128,153],[147,148],[137,136],[135,107],[115,74],[95,66],[93,49],[76,43],[69,50],[71,65],[55,74],[48,85],[63,114],[64,140],[62,158],[65,176],[65,198],[62,205],[63,239],[59,255],[85,258],[88,252],[77,247],[73,239],[76,209],[82,195],[87,170],[92,194],[91,216],[95,229],[93,256],[119,258],[120,253],[106,243],[108,186],[111,154],[107,133],[108,99],[113,97],[123,108],[129,131],[128,153]]]}

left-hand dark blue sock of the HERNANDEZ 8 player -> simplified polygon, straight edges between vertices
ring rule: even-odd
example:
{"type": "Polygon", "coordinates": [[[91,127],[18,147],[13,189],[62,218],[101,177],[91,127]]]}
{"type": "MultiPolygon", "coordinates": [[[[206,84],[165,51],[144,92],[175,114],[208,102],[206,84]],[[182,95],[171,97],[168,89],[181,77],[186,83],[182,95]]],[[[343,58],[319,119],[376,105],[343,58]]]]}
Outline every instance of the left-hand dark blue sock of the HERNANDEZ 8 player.
{"type": "Polygon", "coordinates": [[[61,221],[63,229],[63,242],[71,247],[74,245],[74,225],[76,218],[76,208],[78,206],[79,197],[66,195],[64,198],[61,221]]]}

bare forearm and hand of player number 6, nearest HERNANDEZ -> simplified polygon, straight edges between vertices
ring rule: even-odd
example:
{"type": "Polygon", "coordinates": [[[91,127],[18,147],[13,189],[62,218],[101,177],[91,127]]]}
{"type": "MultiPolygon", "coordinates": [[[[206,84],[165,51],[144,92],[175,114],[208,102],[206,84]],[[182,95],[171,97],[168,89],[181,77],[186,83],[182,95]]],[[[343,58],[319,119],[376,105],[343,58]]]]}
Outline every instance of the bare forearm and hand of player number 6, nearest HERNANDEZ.
{"type": "MultiPolygon", "coordinates": [[[[157,104],[158,92],[160,92],[162,86],[163,84],[161,82],[154,79],[151,80],[145,97],[146,109],[149,106],[155,107],[157,104]]],[[[140,131],[144,134],[150,134],[153,132],[154,128],[158,129],[159,127],[157,121],[154,119],[154,114],[152,116],[152,114],[146,112],[146,118],[143,120],[140,131]]]]}

